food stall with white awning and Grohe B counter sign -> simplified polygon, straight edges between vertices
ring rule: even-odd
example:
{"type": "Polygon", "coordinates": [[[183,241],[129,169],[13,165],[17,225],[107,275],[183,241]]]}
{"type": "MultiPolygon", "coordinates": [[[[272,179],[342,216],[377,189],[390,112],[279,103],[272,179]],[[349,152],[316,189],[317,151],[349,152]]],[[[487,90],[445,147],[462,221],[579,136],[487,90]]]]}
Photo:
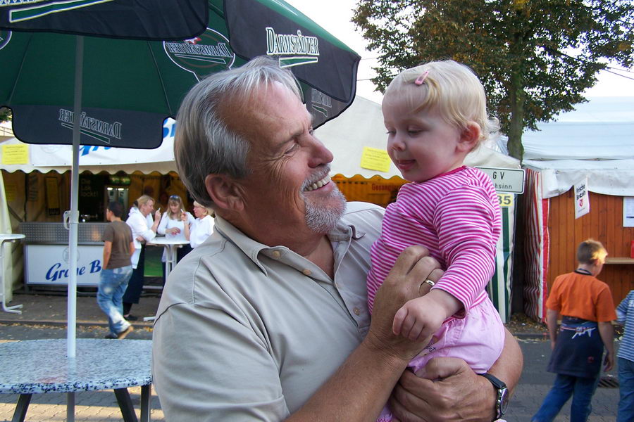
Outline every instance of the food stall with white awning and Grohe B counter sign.
{"type": "MultiPolygon", "coordinates": [[[[173,162],[173,125],[155,150],[82,147],[78,225],[77,285],[97,286],[108,201],[119,200],[127,212],[135,198],[149,194],[166,210],[168,197],[187,198],[173,162]],[[116,164],[113,164],[116,163],[116,164]]],[[[28,145],[0,139],[1,177],[8,209],[7,226],[25,234],[24,248],[13,251],[12,286],[61,285],[68,281],[68,230],[63,213],[70,203],[70,146],[28,145]],[[22,258],[22,253],[24,253],[22,258]],[[22,259],[24,264],[22,265],[22,259]]],[[[125,219],[127,215],[124,215],[125,219]]],[[[159,265],[160,265],[159,251],[159,265]]],[[[10,290],[10,289],[8,289],[10,290]]]]}

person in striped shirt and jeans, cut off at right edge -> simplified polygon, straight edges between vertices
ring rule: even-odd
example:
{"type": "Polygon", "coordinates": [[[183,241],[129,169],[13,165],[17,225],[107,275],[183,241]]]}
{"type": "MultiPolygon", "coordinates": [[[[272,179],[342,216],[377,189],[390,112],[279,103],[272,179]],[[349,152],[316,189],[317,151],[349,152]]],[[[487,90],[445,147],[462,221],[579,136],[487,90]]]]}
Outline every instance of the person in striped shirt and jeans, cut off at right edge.
{"type": "Polygon", "coordinates": [[[631,422],[634,421],[634,290],[616,307],[616,322],[625,326],[616,354],[621,392],[616,422],[631,422]]]}

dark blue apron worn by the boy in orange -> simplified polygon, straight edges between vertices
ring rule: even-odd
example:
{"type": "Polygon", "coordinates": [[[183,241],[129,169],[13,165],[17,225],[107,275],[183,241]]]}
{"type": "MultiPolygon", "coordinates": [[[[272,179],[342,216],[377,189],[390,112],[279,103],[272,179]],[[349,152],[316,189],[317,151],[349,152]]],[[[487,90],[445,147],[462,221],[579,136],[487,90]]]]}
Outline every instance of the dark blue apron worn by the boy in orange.
{"type": "Polygon", "coordinates": [[[548,371],[561,375],[595,378],[601,371],[603,342],[599,324],[563,316],[548,371]]]}

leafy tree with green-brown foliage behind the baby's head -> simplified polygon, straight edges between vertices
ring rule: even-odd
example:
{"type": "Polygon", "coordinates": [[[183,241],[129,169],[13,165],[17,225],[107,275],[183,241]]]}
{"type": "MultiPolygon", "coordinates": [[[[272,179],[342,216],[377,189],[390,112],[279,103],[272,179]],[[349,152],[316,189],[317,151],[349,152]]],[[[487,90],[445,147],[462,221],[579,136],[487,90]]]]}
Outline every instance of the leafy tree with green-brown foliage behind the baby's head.
{"type": "Polygon", "coordinates": [[[585,102],[609,63],[634,64],[632,0],[359,0],[380,91],[400,70],[452,58],[478,74],[521,159],[521,134],[585,102]]]}

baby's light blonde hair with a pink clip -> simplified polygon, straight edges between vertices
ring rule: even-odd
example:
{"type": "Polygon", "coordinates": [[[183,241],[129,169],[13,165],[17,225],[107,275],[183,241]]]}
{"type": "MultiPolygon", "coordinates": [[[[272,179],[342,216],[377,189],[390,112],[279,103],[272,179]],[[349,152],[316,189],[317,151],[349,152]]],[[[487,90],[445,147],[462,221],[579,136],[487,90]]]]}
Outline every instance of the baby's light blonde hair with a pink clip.
{"type": "Polygon", "coordinates": [[[454,60],[425,63],[399,73],[385,90],[383,104],[406,101],[414,113],[437,110],[449,124],[466,129],[480,125],[483,141],[497,134],[499,122],[487,113],[487,98],[480,79],[468,66],[454,60]]]}

